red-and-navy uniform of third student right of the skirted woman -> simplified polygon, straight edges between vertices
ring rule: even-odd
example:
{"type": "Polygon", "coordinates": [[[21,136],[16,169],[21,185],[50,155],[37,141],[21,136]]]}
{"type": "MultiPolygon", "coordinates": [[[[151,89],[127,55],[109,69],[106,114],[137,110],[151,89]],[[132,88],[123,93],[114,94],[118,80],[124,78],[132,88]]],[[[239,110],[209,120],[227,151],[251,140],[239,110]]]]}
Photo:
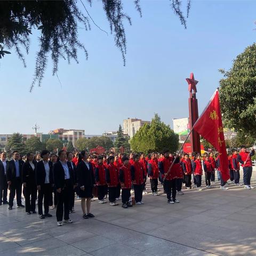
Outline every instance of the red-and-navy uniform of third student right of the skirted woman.
{"type": "Polygon", "coordinates": [[[119,181],[122,186],[122,203],[129,204],[131,196],[132,176],[130,165],[123,165],[119,170],[119,181]]]}

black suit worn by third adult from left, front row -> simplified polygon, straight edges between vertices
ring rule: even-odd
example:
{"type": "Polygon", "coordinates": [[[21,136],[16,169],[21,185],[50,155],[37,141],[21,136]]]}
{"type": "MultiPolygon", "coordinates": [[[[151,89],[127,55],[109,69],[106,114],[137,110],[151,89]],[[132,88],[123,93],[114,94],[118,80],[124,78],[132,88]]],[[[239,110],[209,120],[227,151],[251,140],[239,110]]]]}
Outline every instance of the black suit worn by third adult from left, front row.
{"type": "Polygon", "coordinates": [[[22,183],[26,183],[25,190],[25,207],[26,212],[36,211],[36,161],[25,162],[22,166],[22,183]]]}

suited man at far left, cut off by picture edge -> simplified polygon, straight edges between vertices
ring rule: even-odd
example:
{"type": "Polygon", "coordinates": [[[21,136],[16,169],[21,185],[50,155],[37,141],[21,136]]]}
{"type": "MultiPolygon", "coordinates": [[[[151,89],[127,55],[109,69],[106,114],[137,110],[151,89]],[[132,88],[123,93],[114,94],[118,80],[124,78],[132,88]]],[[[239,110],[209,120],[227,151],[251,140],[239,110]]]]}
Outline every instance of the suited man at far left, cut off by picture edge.
{"type": "Polygon", "coordinates": [[[7,204],[7,178],[6,171],[8,166],[8,161],[6,161],[6,153],[2,152],[0,154],[0,205],[7,204]]]}

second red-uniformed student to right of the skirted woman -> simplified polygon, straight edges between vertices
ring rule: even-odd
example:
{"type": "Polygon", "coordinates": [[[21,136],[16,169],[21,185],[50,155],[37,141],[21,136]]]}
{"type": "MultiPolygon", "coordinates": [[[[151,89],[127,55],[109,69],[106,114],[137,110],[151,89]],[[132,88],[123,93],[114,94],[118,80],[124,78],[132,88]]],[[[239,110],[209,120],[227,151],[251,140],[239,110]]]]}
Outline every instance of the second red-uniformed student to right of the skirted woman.
{"type": "Polygon", "coordinates": [[[111,206],[118,205],[116,203],[116,195],[117,195],[117,185],[119,183],[118,179],[118,170],[114,165],[115,157],[110,156],[108,158],[109,165],[106,169],[106,181],[108,185],[108,200],[111,206]]]}

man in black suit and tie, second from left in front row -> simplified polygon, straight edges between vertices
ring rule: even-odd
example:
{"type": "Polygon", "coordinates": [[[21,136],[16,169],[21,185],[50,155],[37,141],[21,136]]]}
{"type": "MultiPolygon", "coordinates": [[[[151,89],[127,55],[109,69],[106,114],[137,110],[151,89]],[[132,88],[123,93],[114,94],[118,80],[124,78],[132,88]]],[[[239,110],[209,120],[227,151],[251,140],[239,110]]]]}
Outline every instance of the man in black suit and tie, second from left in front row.
{"type": "Polygon", "coordinates": [[[7,183],[10,188],[8,210],[12,210],[15,191],[16,191],[17,206],[22,208],[25,207],[24,205],[21,204],[21,190],[22,190],[21,170],[24,162],[20,160],[19,151],[14,150],[12,154],[13,154],[12,155],[13,159],[9,162],[7,171],[6,171],[7,183]]]}

